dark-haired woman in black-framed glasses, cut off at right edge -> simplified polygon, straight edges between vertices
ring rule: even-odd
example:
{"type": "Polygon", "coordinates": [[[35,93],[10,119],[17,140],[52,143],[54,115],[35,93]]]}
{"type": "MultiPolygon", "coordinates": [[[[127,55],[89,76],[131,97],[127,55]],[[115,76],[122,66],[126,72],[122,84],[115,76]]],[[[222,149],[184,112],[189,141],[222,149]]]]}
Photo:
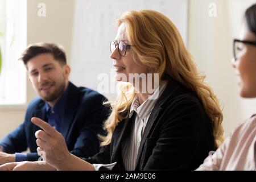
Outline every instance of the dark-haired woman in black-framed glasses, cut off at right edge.
{"type": "MultiPolygon", "coordinates": [[[[232,61],[240,96],[256,97],[256,4],[245,12],[240,39],[234,39],[232,61]]],[[[197,170],[256,170],[256,115],[233,131],[197,170]]]]}

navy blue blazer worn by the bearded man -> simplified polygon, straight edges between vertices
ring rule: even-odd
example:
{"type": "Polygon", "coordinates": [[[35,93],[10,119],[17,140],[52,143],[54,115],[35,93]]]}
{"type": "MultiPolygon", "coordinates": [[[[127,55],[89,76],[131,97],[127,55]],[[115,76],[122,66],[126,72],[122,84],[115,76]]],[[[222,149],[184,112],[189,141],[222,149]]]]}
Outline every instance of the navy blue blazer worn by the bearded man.
{"type": "MultiPolygon", "coordinates": [[[[69,82],[64,122],[60,133],[65,138],[68,150],[80,158],[93,156],[100,149],[97,134],[104,134],[103,122],[109,114],[109,108],[102,105],[106,98],[100,93],[88,89],[77,88],[69,82]]],[[[47,122],[46,104],[41,98],[35,98],[27,108],[24,122],[0,141],[5,152],[26,151],[29,161],[38,160],[35,132],[40,128],[31,123],[32,117],[38,117],[47,122]]]]}

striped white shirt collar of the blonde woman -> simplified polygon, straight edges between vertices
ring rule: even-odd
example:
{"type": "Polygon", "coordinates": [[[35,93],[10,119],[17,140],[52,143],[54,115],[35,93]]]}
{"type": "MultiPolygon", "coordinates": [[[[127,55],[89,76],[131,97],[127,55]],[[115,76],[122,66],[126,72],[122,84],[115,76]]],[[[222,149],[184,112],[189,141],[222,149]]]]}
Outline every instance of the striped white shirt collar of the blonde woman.
{"type": "Polygon", "coordinates": [[[158,100],[160,95],[163,93],[164,89],[167,86],[167,82],[164,82],[162,85],[156,89],[156,91],[148,97],[146,101],[142,103],[142,105],[139,104],[139,98],[138,95],[134,97],[134,100],[131,104],[130,114],[129,118],[133,115],[134,111],[138,114],[138,117],[141,119],[144,119],[149,115],[152,111],[152,109],[155,106],[155,102],[158,100]]]}

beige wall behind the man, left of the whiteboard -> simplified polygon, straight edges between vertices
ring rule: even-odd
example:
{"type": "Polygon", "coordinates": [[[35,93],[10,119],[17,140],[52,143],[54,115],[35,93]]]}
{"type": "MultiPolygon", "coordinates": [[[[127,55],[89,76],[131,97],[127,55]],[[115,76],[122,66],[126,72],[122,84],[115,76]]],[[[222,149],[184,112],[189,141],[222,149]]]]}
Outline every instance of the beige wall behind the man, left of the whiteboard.
{"type": "MultiPolygon", "coordinates": [[[[59,43],[65,47],[70,63],[74,1],[28,0],[27,1],[27,44],[37,42],[59,43]],[[46,17],[38,16],[38,4],[46,4],[46,17]]],[[[27,84],[27,104],[36,96],[27,84]]],[[[23,122],[26,106],[0,108],[0,138],[23,122]]]]}

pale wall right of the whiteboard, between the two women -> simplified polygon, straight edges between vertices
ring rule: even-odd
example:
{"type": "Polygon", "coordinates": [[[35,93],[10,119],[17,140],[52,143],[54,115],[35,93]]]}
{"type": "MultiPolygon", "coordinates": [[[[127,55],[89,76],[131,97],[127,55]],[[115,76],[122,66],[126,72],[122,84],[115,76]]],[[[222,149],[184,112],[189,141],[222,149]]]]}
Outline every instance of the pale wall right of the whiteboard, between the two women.
{"type": "Polygon", "coordinates": [[[220,98],[224,108],[225,136],[238,123],[255,113],[255,101],[240,98],[236,76],[231,65],[233,38],[240,32],[244,10],[251,0],[189,1],[188,47],[199,69],[220,98]],[[209,16],[209,4],[215,3],[217,16],[209,16]]]}

